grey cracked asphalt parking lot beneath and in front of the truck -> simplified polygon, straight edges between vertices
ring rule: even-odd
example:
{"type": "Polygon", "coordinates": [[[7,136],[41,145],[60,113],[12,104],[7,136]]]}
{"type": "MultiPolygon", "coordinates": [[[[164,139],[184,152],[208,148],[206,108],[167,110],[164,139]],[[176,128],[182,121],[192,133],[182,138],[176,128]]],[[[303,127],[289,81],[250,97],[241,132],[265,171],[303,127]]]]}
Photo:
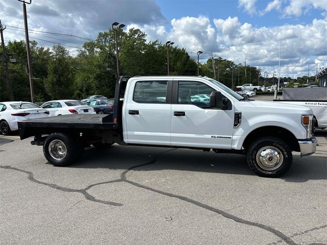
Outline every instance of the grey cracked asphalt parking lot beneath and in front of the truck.
{"type": "Polygon", "coordinates": [[[54,167],[0,136],[0,243],[327,244],[326,135],[277,179],[242,155],[116,144],[54,167]]]}

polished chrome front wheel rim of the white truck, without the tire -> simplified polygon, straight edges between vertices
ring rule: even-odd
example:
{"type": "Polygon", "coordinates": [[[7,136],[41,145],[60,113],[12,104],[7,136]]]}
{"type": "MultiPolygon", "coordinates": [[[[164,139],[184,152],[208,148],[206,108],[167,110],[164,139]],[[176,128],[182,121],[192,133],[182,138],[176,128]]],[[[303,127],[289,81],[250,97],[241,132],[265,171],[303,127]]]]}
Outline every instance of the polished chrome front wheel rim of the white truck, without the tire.
{"type": "Polygon", "coordinates": [[[274,146],[264,146],[256,153],[256,162],[264,170],[275,170],[283,164],[282,152],[274,146]]]}

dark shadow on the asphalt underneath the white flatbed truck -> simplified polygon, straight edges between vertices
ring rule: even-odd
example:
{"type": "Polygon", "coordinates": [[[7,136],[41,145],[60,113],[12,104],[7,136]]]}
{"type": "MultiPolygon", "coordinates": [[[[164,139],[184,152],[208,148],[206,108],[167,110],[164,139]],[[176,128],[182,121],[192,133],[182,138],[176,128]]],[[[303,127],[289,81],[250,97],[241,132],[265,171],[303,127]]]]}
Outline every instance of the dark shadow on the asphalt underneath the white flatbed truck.
{"type": "MultiPolygon", "coordinates": [[[[144,165],[133,171],[158,171],[165,169],[197,171],[206,173],[255,176],[248,167],[246,156],[237,154],[216,154],[200,150],[169,148],[144,148],[143,146],[113,145],[106,150],[86,149],[83,158],[67,166],[71,168],[107,168],[126,170],[131,166],[144,164],[152,160],[153,164],[144,165]],[[158,154],[160,154],[158,156],[158,154]]],[[[308,180],[325,180],[327,162],[325,156],[293,156],[293,164],[288,172],[279,179],[287,182],[306,182],[308,180]]]]}

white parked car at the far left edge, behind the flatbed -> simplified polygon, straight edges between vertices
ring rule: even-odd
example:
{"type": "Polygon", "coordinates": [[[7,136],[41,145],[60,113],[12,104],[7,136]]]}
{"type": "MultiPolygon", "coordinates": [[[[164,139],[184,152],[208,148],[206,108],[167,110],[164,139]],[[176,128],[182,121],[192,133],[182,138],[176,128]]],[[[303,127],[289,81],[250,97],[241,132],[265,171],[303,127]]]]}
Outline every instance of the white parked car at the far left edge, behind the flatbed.
{"type": "Polygon", "coordinates": [[[0,102],[0,133],[9,135],[18,130],[17,121],[48,116],[48,110],[30,102],[0,102]]]}

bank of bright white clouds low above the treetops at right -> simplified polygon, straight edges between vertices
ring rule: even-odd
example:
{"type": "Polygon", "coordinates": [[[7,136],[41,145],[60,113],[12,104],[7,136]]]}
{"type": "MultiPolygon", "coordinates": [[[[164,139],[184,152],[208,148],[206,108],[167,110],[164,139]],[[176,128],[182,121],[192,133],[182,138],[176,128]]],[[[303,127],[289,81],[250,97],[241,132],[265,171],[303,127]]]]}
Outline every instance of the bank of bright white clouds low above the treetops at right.
{"type": "MultiPolygon", "coordinates": [[[[315,59],[319,59],[320,65],[327,63],[327,20],[260,28],[241,23],[238,17],[213,19],[213,22],[214,27],[207,17],[183,17],[172,20],[171,31],[163,26],[138,27],[148,34],[149,41],[174,41],[175,45],[185,47],[191,57],[196,58],[194,53],[199,50],[206,54],[213,51],[235,63],[242,63],[246,58],[247,64],[261,66],[262,70],[275,74],[278,72],[279,39],[282,39],[281,76],[286,77],[307,75],[308,65],[310,74],[315,74],[315,59]]],[[[202,62],[208,57],[202,55],[202,62]]]]}

